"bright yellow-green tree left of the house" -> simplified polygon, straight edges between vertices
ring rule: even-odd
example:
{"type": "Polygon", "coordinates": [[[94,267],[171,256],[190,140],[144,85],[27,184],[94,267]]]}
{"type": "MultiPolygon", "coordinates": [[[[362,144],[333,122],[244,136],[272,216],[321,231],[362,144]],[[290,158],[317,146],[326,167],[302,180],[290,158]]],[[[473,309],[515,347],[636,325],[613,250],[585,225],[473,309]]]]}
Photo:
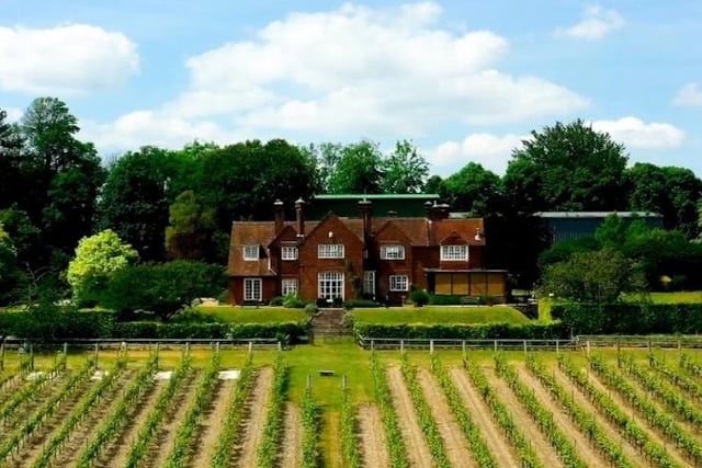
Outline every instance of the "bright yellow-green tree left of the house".
{"type": "Polygon", "coordinates": [[[137,259],[136,250],[111,229],[82,238],[66,273],[76,304],[94,305],[110,278],[137,259]]]}

